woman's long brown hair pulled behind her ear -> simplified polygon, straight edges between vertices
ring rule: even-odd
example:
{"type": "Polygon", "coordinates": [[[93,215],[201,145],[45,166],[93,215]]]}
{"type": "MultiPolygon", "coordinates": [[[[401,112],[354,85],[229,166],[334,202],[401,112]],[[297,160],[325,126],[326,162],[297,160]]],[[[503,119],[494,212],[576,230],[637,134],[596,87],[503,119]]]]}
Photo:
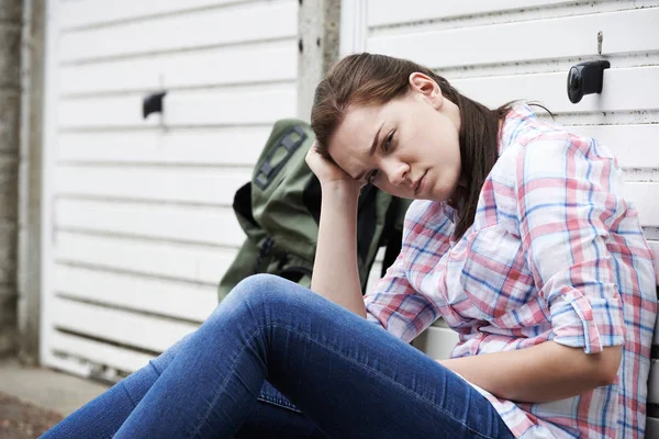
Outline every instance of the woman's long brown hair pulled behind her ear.
{"type": "Polygon", "coordinates": [[[460,112],[460,158],[467,193],[455,235],[461,237],[473,224],[481,188],[499,157],[499,121],[511,110],[511,103],[490,110],[460,94],[427,67],[407,59],[365,53],[343,58],[319,83],[311,110],[311,126],[316,135],[319,153],[332,160],[327,153],[330,138],[348,106],[382,105],[402,98],[409,91],[409,77],[415,71],[437,82],[444,98],[455,103],[460,112]]]}

